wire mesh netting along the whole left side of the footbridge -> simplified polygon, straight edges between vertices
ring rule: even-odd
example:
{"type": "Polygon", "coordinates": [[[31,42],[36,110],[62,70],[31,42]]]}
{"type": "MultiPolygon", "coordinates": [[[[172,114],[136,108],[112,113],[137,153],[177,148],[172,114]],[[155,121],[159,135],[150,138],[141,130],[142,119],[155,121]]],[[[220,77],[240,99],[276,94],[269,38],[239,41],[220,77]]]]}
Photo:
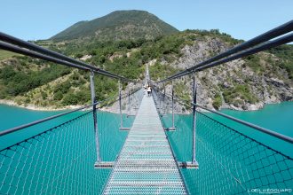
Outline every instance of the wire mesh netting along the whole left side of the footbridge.
{"type": "MultiPolygon", "coordinates": [[[[141,95],[133,98],[137,105],[141,95]]],[[[100,158],[114,161],[128,132],[119,131],[116,112],[99,111],[97,118],[100,158]]],[[[123,114],[123,125],[131,127],[133,119],[123,114]]],[[[0,194],[100,194],[111,169],[94,168],[96,160],[92,111],[80,112],[73,120],[0,151],[0,194]]]]}

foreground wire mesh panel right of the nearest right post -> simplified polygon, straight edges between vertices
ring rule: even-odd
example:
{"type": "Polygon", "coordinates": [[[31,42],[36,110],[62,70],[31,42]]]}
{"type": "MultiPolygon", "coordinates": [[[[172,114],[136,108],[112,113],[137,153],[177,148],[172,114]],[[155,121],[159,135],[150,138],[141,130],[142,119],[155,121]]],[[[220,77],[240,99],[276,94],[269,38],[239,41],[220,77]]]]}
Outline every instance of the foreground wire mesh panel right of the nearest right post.
{"type": "MultiPolygon", "coordinates": [[[[293,183],[293,160],[234,129],[197,113],[198,160],[208,162],[214,181],[192,174],[196,183],[207,183],[214,193],[242,194],[251,189],[289,189],[293,183]],[[209,163],[209,161],[212,161],[209,163]],[[225,184],[224,184],[225,183],[225,184]]],[[[203,193],[204,187],[199,189],[203,193]]]]}

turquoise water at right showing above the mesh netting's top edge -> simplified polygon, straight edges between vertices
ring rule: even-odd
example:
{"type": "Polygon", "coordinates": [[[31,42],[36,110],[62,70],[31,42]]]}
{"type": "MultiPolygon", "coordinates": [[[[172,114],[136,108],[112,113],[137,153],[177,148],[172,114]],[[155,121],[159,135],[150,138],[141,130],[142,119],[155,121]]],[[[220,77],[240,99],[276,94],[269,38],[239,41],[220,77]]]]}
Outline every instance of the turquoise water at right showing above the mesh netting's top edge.
{"type": "MultiPolygon", "coordinates": [[[[265,107],[258,111],[234,111],[222,110],[222,113],[234,116],[242,121],[248,121],[265,129],[273,130],[285,136],[293,137],[293,102],[282,102],[281,104],[265,105],[265,107]]],[[[209,113],[209,115],[222,123],[226,124],[232,129],[256,139],[257,141],[266,144],[273,149],[284,152],[289,156],[293,156],[292,144],[286,143],[279,138],[268,136],[256,129],[248,128],[237,122],[228,120],[216,114],[209,113]]]]}

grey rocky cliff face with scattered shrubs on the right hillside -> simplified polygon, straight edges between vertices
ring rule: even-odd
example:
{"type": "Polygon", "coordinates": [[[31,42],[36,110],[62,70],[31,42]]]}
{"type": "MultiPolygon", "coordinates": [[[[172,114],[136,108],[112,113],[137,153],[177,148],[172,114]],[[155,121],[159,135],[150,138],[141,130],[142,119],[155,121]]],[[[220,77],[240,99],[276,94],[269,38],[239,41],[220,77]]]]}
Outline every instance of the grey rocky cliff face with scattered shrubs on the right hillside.
{"type": "MultiPolygon", "coordinates": [[[[218,38],[195,41],[183,47],[181,57],[170,66],[186,69],[230,47],[218,38]]],[[[260,109],[265,104],[292,101],[293,81],[277,66],[281,59],[268,52],[258,53],[256,58],[255,64],[246,58],[237,59],[196,73],[197,103],[211,109],[249,111],[260,109]]],[[[191,99],[192,84],[191,76],[178,79],[174,87],[175,95],[186,95],[191,99]],[[176,94],[176,91],[182,92],[176,94]]],[[[170,89],[169,84],[166,86],[167,94],[170,94],[170,89]]],[[[175,107],[177,113],[188,112],[180,105],[175,107]]]]}

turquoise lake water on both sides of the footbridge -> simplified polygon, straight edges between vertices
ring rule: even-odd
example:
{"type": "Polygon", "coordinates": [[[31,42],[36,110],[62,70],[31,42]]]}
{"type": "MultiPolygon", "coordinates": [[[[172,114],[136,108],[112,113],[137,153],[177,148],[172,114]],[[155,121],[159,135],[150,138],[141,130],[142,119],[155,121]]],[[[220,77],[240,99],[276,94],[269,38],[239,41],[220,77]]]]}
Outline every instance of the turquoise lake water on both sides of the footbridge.
{"type": "MultiPolygon", "coordinates": [[[[9,129],[63,112],[36,112],[15,106],[0,105],[0,130],[9,129]]],[[[292,102],[265,105],[265,108],[259,111],[238,112],[223,110],[221,112],[266,129],[272,129],[281,134],[293,136],[292,102]]],[[[99,112],[98,114],[100,155],[102,160],[115,160],[123,146],[127,132],[118,130],[120,125],[119,119],[119,115],[115,113],[99,112]]],[[[170,127],[170,119],[170,114],[162,117],[165,127],[170,127]]],[[[130,127],[132,121],[133,117],[123,115],[125,127],[130,127]]],[[[12,160],[9,161],[10,158],[8,158],[6,165],[12,166],[15,164],[19,166],[18,169],[22,170],[22,172],[20,174],[9,173],[11,175],[14,174],[9,177],[12,180],[12,184],[4,186],[0,189],[0,193],[12,193],[12,191],[17,191],[20,194],[21,192],[24,194],[32,192],[59,194],[72,193],[73,191],[77,194],[100,193],[102,186],[107,181],[110,170],[93,168],[96,153],[91,124],[92,113],[76,112],[60,119],[44,122],[32,128],[13,133],[12,135],[0,137],[0,149],[3,149],[23,139],[40,134],[44,130],[51,129],[48,133],[36,136],[33,141],[29,139],[28,142],[16,145],[9,150],[9,152],[20,152],[23,148],[26,150],[31,148],[31,145],[38,148],[19,157],[19,161],[23,160],[25,162],[21,168],[19,168],[21,163],[18,160],[11,158],[12,160]],[[62,124],[78,116],[81,116],[78,120],[62,124]],[[62,125],[54,128],[59,124],[62,125]],[[42,144],[38,145],[37,143],[42,144]],[[86,158],[79,158],[81,153],[85,153],[86,158]],[[32,157],[31,161],[28,160],[28,156],[32,157]],[[66,171],[63,173],[62,168],[64,167],[66,171]],[[27,169],[28,171],[23,171],[27,169]],[[36,174],[39,171],[41,172],[36,174]],[[17,186],[17,183],[20,183],[21,180],[16,178],[20,177],[26,178],[29,182],[26,182],[21,187],[17,186]],[[15,186],[13,186],[14,183],[15,186]],[[27,189],[30,190],[27,191],[27,189]],[[34,190],[32,191],[31,189],[34,190]]],[[[191,124],[191,115],[176,115],[175,126],[177,130],[167,133],[178,160],[191,160],[191,124]]],[[[283,152],[292,158],[292,144],[284,143],[272,136],[266,136],[254,129],[249,129],[212,113],[198,113],[196,127],[196,160],[199,162],[200,168],[193,170],[182,169],[191,194],[242,193],[245,191],[243,189],[251,189],[257,186],[257,183],[263,183],[265,186],[276,188],[289,185],[286,182],[276,183],[275,181],[282,181],[286,176],[288,177],[282,170],[288,169],[288,166],[292,165],[286,164],[288,160],[285,160],[285,157],[278,152],[283,152]],[[220,123],[217,121],[220,121],[220,123]],[[258,142],[262,144],[258,144],[258,142]],[[250,153],[254,153],[254,155],[249,156],[250,153]],[[272,172],[272,169],[265,166],[265,164],[272,162],[276,166],[276,168],[273,168],[273,171],[275,171],[274,178],[267,176],[267,172],[272,172]],[[281,162],[285,162],[285,164],[280,164],[281,162]],[[252,167],[248,167],[248,164],[252,167]],[[254,167],[257,168],[257,174],[254,167]],[[239,184],[238,179],[241,181],[241,184],[239,184]]],[[[16,157],[13,156],[13,158],[16,157]]],[[[4,170],[0,170],[0,182],[3,179],[1,173],[4,170]]],[[[6,178],[5,180],[8,179],[6,178]]]]}

